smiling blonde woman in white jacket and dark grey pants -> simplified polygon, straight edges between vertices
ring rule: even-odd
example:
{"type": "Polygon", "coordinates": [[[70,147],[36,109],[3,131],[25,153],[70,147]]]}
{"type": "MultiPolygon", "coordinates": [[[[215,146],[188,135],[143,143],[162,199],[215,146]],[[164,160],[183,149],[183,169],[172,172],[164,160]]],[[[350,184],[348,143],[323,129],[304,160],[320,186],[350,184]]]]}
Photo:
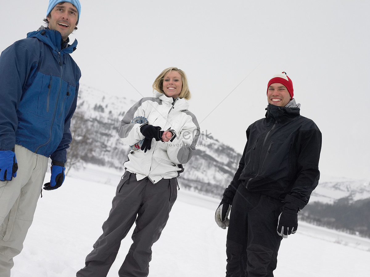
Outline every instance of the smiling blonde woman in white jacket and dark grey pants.
{"type": "Polygon", "coordinates": [[[166,68],[153,83],[154,97],[139,100],[121,121],[119,136],[131,146],[103,234],[77,277],[107,276],[121,240],[136,220],[133,243],[118,271],[120,277],[149,274],[151,247],[169,218],[177,197],[177,177],[195,151],[199,125],[189,112],[191,93],[185,73],[166,68]]]}

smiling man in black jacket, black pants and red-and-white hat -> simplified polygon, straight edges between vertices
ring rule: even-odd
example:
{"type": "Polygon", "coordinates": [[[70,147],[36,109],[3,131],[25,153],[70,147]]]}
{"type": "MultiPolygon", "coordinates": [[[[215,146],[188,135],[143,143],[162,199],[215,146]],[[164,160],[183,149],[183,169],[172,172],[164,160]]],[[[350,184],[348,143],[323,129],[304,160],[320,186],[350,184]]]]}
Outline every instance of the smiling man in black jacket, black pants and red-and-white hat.
{"type": "Polygon", "coordinates": [[[266,117],[248,127],[239,168],[215,214],[219,227],[229,227],[226,277],[273,276],[280,242],[296,232],[297,213],[319,182],[319,128],[299,114],[285,72],[267,87],[266,117]]]}

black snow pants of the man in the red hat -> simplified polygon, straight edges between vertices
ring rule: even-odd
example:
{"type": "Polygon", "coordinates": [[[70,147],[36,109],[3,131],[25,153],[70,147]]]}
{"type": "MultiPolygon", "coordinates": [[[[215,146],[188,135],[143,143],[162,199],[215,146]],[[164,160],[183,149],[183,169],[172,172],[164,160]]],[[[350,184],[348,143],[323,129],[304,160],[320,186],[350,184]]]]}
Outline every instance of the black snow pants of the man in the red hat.
{"type": "Polygon", "coordinates": [[[226,239],[226,277],[273,277],[282,239],[276,232],[282,209],[280,199],[239,186],[226,239]]]}

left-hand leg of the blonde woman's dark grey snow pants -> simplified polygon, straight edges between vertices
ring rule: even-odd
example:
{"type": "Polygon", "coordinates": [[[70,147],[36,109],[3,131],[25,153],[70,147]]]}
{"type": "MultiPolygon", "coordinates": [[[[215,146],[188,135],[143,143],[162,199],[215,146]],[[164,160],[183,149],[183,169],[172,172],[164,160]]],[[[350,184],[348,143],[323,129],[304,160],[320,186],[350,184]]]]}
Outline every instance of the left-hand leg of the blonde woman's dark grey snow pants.
{"type": "Polygon", "coordinates": [[[103,233],[87,255],[85,267],[77,272],[77,277],[107,276],[121,240],[135,222],[139,207],[142,205],[146,181],[137,181],[136,175],[126,171],[118,184],[116,195],[108,219],[102,226],[103,233]]]}

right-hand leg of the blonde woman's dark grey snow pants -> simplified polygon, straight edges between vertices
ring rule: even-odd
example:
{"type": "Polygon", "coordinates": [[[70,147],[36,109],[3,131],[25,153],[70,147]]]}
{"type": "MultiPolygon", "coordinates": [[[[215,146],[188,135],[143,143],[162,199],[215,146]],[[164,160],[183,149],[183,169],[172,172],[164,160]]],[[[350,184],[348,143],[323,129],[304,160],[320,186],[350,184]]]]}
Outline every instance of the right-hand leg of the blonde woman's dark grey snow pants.
{"type": "Polygon", "coordinates": [[[133,243],[118,271],[120,277],[146,277],[152,258],[152,245],[159,239],[177,198],[177,180],[162,179],[157,184],[147,180],[144,204],[140,207],[133,243]]]}

